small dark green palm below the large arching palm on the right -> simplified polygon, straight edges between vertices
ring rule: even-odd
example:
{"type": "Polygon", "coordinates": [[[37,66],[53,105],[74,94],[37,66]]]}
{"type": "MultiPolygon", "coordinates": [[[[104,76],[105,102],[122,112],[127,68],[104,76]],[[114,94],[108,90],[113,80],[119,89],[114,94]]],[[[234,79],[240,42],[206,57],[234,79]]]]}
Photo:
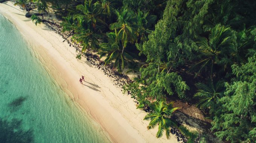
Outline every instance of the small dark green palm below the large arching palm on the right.
{"type": "Polygon", "coordinates": [[[219,105],[219,99],[224,96],[224,82],[218,81],[216,84],[213,84],[212,81],[209,81],[208,85],[197,83],[196,87],[198,88],[198,92],[194,97],[200,99],[197,106],[210,108],[210,113],[213,113],[219,105]]]}

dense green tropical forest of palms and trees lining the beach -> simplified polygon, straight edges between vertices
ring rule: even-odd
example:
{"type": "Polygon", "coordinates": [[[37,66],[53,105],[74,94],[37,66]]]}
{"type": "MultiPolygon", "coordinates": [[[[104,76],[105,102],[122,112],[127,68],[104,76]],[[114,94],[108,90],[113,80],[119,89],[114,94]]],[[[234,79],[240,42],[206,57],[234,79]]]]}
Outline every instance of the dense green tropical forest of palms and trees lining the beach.
{"type": "Polygon", "coordinates": [[[63,16],[63,30],[73,33],[82,52],[98,51],[105,64],[113,62],[119,73],[129,63],[146,62],[141,76],[124,89],[138,100],[139,108],[153,109],[145,119],[151,119],[149,128],[158,123],[158,137],[163,130],[168,135],[164,122],[170,123],[166,117],[177,109],[162,101],[176,97],[197,102],[212,119],[212,131],[220,139],[256,141],[256,2],[35,2],[39,11],[49,13],[51,7],[63,16]]]}

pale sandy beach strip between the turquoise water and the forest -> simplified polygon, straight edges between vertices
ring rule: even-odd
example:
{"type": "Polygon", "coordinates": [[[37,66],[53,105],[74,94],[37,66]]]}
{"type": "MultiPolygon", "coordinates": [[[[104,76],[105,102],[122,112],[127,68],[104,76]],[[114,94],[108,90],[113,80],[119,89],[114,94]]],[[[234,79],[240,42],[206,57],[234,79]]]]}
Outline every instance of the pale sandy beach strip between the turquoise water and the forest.
{"type": "Polygon", "coordinates": [[[143,120],[147,113],[136,109],[133,99],[123,94],[121,88],[114,86],[113,79],[104,72],[95,68],[84,57],[81,60],[76,59],[76,49],[67,42],[62,42],[64,39],[57,33],[44,24],[36,26],[12,2],[0,3],[0,13],[15,24],[48,73],[70,99],[101,125],[111,141],[177,142],[172,134],[169,139],[165,135],[156,138],[157,128],[148,130],[149,122],[143,120]],[[81,75],[85,76],[83,84],[79,83],[81,75]]]}

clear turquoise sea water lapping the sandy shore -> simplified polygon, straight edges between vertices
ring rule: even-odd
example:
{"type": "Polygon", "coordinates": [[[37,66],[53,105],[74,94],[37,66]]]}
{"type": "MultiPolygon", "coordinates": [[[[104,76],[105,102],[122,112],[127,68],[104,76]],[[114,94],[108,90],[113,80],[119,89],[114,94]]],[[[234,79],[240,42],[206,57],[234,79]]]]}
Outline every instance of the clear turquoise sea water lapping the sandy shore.
{"type": "Polygon", "coordinates": [[[0,143],[105,143],[102,129],[70,100],[0,14],[0,143]]]}

